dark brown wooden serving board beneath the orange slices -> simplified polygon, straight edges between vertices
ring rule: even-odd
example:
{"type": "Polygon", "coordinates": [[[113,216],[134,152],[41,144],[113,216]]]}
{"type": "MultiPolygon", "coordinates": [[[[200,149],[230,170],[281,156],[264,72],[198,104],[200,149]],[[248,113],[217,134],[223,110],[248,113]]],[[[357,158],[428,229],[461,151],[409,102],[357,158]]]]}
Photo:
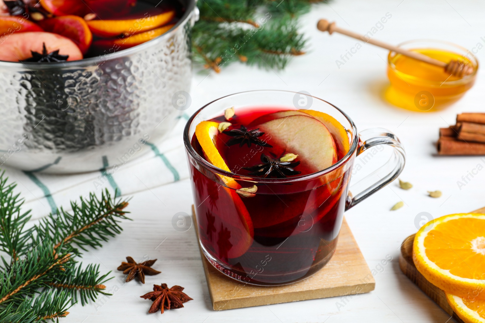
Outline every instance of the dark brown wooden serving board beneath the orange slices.
{"type": "MultiPolygon", "coordinates": [[[[485,213],[485,208],[472,211],[470,213],[485,213]]],[[[413,261],[413,243],[414,243],[414,236],[416,234],[412,234],[404,239],[403,245],[401,246],[401,255],[399,256],[399,267],[401,267],[401,271],[406,275],[413,283],[418,285],[418,287],[428,295],[436,304],[439,305],[440,308],[443,308],[448,315],[453,316],[453,319],[456,320],[458,323],[464,323],[453,309],[448,304],[446,300],[445,292],[435,285],[430,283],[421,273],[416,269],[413,261]]]]}

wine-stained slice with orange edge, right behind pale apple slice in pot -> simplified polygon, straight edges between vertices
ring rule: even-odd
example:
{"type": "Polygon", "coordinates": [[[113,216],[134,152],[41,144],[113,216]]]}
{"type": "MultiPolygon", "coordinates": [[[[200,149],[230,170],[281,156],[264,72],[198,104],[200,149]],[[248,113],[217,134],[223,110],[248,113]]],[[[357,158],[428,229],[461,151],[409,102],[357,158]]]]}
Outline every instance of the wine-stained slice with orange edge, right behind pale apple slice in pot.
{"type": "Polygon", "coordinates": [[[93,42],[93,34],[81,17],[77,15],[65,15],[56,18],[49,18],[39,21],[39,25],[45,31],[57,33],[72,40],[81,53],[85,54],[93,42]]]}

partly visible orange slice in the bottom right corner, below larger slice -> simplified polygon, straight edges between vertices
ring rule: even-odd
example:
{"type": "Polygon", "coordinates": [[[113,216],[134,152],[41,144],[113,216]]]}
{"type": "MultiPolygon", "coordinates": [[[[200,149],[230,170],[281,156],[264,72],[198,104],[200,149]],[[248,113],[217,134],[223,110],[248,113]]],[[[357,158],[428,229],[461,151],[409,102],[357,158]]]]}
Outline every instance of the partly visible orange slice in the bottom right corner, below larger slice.
{"type": "Polygon", "coordinates": [[[445,293],[448,304],[465,323],[485,323],[485,301],[445,293]]]}

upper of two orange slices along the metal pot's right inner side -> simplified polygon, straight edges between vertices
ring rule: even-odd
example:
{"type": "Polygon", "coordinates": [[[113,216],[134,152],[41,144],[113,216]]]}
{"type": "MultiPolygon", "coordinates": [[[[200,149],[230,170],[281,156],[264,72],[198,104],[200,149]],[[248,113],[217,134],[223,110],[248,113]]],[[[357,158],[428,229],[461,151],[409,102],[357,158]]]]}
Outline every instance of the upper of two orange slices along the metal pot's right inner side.
{"type": "Polygon", "coordinates": [[[133,35],[149,31],[169,23],[175,16],[175,11],[167,11],[160,15],[126,20],[89,20],[87,24],[91,31],[99,37],[114,37],[133,35]]]}

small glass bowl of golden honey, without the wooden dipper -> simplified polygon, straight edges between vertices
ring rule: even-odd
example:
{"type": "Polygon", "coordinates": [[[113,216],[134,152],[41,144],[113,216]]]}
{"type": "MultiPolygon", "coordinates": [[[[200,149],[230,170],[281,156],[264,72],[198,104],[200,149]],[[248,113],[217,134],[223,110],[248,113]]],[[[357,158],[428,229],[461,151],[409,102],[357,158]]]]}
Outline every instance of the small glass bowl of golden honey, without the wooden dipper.
{"type": "Polygon", "coordinates": [[[411,40],[398,46],[442,62],[458,60],[472,64],[473,73],[456,77],[442,67],[391,51],[387,70],[390,85],[384,96],[394,106],[421,112],[438,111],[460,99],[475,83],[478,60],[464,47],[438,40],[411,40]]]}

